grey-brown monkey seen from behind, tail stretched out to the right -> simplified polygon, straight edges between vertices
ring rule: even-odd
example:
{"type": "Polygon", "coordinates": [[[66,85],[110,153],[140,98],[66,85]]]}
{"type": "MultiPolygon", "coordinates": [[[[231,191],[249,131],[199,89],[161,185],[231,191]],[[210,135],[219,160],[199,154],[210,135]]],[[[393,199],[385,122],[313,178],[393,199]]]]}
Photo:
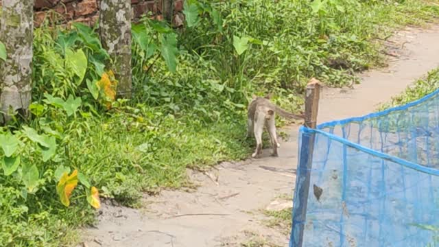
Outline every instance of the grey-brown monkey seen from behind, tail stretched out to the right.
{"type": "Polygon", "coordinates": [[[247,134],[246,138],[254,134],[256,139],[256,150],[252,154],[252,158],[257,157],[262,153],[262,132],[263,127],[266,126],[268,134],[270,135],[270,141],[272,143],[273,152],[271,156],[278,156],[277,150],[281,145],[277,141],[276,137],[276,124],[274,119],[276,113],[281,117],[287,119],[303,119],[303,115],[294,115],[283,110],[279,106],[276,106],[270,102],[272,95],[266,95],[265,97],[252,96],[252,100],[248,104],[248,122],[247,122],[247,134]]]}

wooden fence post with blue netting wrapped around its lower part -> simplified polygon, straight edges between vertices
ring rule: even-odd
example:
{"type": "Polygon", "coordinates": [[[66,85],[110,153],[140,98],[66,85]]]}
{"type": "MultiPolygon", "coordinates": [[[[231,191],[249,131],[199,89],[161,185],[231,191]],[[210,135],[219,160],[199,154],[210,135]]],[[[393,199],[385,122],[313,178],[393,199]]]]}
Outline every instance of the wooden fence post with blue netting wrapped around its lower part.
{"type": "MultiPolygon", "coordinates": [[[[318,103],[320,99],[320,82],[312,78],[305,93],[305,127],[316,128],[318,103]]],[[[314,140],[316,134],[312,132],[302,132],[302,141],[300,146],[300,160],[298,163],[298,173],[296,178],[296,194],[294,196],[294,215],[293,222],[299,224],[292,232],[292,246],[302,247],[303,231],[305,230],[306,214],[309,187],[311,180],[311,168],[313,163],[314,140]]]]}

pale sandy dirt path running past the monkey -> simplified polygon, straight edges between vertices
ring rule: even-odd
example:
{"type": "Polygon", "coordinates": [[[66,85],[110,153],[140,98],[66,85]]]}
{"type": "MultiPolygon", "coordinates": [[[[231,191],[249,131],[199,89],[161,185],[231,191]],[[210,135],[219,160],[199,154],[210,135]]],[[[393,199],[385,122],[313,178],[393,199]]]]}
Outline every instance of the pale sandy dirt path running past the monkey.
{"type": "MultiPolygon", "coordinates": [[[[375,111],[379,104],[439,67],[438,40],[439,26],[397,32],[386,43],[392,55],[389,67],[364,73],[355,89],[323,89],[318,122],[375,111]]],[[[289,138],[281,143],[278,158],[264,150],[262,158],[221,163],[204,174],[188,170],[200,187],[145,196],[142,209],[104,204],[99,224],[84,229],[82,246],[241,246],[254,236],[271,244],[267,246],[287,246],[289,235],[268,227],[261,211],[292,207],[291,200],[281,198],[294,193],[298,126],[283,131],[289,138]]]]}

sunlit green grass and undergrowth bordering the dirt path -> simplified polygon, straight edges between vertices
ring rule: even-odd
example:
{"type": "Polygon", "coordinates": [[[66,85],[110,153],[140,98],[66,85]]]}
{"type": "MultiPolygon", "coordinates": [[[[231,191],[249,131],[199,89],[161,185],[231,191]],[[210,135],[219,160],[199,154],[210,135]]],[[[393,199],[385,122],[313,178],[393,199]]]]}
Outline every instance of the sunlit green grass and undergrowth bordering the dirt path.
{"type": "MultiPolygon", "coordinates": [[[[139,40],[150,43],[134,40],[134,97],[128,102],[108,102],[105,93],[112,90],[113,80],[102,77],[104,71],[110,75],[106,67],[100,71],[108,58],[94,30],[43,25],[34,34],[32,117],[17,116],[0,130],[19,140],[16,152],[21,156],[16,172],[0,175],[1,245],[69,246],[78,240],[75,228],[93,222],[95,211],[87,204],[84,181],[73,191],[69,207],[60,202],[60,167],[78,169],[101,197],[135,206],[144,192],[189,185],[188,167],[206,169],[248,157],[253,140],[244,139],[245,110],[252,93],[274,93],[276,104],[297,111],[309,78],[331,86],[356,82],[355,72],[383,64],[379,40],[403,25],[433,20],[439,15],[438,3],[332,0],[319,7],[305,0],[193,0],[196,25],[170,30],[143,22],[139,35],[147,36],[139,40]],[[169,49],[174,36],[178,42],[169,49]],[[69,40],[74,40],[69,49],[87,58],[79,86],[75,71],[63,66],[77,62],[63,55],[69,54],[69,40]],[[147,56],[143,48],[154,46],[161,48],[147,56]],[[163,47],[175,51],[175,73],[161,54],[163,47]],[[93,88],[93,82],[105,82],[108,90],[93,88]],[[50,95],[63,103],[49,102],[50,95]],[[69,95],[80,99],[75,110],[64,102],[69,95]],[[41,158],[47,150],[29,139],[25,125],[41,138],[56,140],[56,152],[47,161],[41,158]],[[35,188],[29,189],[22,175],[23,167],[31,165],[38,176],[35,188]]],[[[432,81],[425,83],[416,92],[427,91],[432,81]]],[[[288,213],[268,212],[276,219],[273,224],[285,226],[288,213]]],[[[255,240],[246,246],[261,246],[257,244],[255,240]]]]}

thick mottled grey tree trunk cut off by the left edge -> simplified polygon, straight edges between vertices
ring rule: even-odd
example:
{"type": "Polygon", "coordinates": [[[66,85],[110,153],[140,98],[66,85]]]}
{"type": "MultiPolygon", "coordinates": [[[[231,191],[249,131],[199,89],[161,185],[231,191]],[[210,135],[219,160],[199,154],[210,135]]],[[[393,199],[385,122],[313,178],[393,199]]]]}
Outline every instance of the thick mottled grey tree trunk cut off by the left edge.
{"type": "Polygon", "coordinates": [[[32,41],[34,38],[34,1],[3,1],[0,19],[0,40],[8,58],[0,61],[0,121],[9,121],[8,114],[20,110],[29,115],[32,100],[32,41]],[[4,119],[1,119],[3,118],[4,119]]]}

